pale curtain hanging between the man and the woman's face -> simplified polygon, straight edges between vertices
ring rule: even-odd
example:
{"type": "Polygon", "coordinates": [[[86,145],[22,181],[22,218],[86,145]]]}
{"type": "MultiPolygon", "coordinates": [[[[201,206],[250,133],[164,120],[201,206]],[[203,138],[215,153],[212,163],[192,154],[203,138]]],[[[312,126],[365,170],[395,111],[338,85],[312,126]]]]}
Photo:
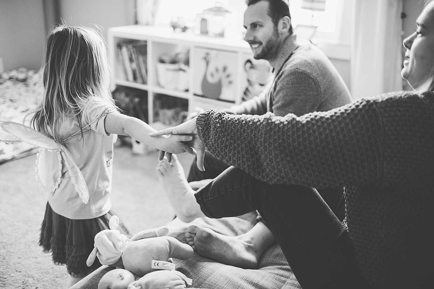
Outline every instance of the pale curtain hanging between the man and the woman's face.
{"type": "Polygon", "coordinates": [[[354,100],[402,90],[403,0],[355,0],[351,55],[354,100]]]}

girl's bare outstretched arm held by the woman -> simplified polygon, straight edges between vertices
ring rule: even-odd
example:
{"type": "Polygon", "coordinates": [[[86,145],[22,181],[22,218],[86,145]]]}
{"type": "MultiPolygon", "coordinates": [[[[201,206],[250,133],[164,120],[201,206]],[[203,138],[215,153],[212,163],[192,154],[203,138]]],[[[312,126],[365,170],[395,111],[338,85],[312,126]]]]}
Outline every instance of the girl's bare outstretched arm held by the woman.
{"type": "Polygon", "coordinates": [[[124,136],[131,136],[133,139],[148,146],[155,147],[168,153],[191,153],[193,149],[187,143],[192,139],[188,135],[171,135],[152,138],[148,134],[156,132],[147,123],[135,117],[130,117],[118,112],[111,112],[105,116],[105,131],[124,136]]]}

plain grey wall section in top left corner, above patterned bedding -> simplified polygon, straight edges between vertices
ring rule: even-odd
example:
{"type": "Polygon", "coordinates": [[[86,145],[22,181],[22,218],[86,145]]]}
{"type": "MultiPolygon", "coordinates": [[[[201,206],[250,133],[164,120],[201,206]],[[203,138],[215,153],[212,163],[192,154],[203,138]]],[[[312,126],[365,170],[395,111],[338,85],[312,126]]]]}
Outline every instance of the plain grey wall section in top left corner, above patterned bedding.
{"type": "Polygon", "coordinates": [[[44,42],[43,0],[0,0],[0,58],[5,71],[38,69],[44,42]]]}

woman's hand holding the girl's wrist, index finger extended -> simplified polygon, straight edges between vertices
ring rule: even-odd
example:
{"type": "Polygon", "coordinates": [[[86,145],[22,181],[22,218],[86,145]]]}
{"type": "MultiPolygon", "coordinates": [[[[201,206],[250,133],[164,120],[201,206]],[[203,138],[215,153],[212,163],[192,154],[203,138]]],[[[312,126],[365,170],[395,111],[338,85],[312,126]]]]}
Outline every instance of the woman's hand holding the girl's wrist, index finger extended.
{"type": "MultiPolygon", "coordinates": [[[[191,146],[193,149],[196,150],[197,153],[197,168],[201,171],[205,170],[204,167],[204,156],[205,156],[205,146],[203,140],[199,137],[197,134],[197,128],[196,128],[196,117],[193,119],[181,123],[180,125],[176,127],[169,127],[165,130],[160,130],[156,133],[150,133],[149,136],[156,137],[156,136],[164,136],[164,135],[187,135],[192,136],[191,140],[186,140],[185,142],[191,146]]],[[[160,155],[158,156],[158,160],[162,160],[164,157],[164,151],[160,151],[160,155]]],[[[189,152],[187,152],[189,153],[189,152]]],[[[169,158],[168,158],[169,159],[169,158]]]]}

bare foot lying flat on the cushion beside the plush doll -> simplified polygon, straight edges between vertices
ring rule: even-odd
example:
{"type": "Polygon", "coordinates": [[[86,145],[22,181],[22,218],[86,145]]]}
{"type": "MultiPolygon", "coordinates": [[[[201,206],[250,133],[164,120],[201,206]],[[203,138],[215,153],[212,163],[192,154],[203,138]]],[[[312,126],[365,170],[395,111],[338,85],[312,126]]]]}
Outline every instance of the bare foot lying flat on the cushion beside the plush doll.
{"type": "Polygon", "coordinates": [[[202,257],[237,266],[256,269],[262,252],[255,250],[249,238],[218,234],[211,229],[191,225],[185,234],[187,244],[202,257]]]}

